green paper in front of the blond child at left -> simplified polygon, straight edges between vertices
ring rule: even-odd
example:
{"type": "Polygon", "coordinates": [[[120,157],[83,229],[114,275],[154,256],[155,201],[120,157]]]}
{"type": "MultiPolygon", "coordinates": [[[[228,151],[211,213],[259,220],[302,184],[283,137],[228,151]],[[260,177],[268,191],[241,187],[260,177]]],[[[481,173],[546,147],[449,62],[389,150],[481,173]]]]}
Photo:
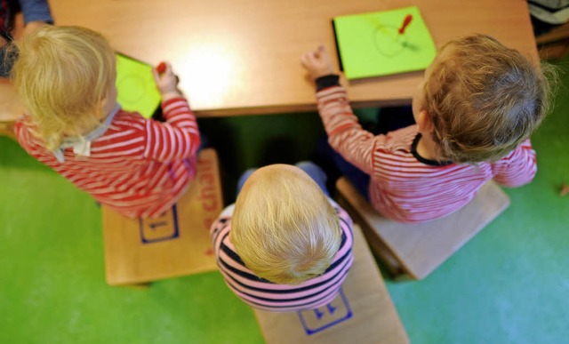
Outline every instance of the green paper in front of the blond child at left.
{"type": "Polygon", "coordinates": [[[117,100],[126,111],[136,111],[150,118],[160,104],[160,92],[156,88],[152,67],[116,53],[117,100]]]}

